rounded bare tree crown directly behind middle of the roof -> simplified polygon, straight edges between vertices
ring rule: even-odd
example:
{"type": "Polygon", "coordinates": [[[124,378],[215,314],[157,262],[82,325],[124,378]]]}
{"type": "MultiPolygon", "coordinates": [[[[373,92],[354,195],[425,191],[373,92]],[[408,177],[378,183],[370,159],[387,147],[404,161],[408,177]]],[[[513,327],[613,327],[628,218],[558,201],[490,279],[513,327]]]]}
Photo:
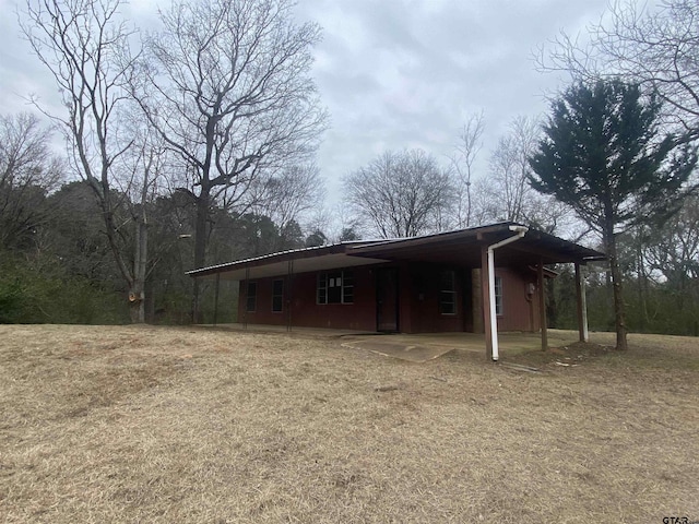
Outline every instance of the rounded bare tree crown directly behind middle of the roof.
{"type": "Polygon", "coordinates": [[[380,155],[347,176],[344,190],[357,218],[382,238],[438,230],[453,202],[449,172],[422,150],[380,155]]]}

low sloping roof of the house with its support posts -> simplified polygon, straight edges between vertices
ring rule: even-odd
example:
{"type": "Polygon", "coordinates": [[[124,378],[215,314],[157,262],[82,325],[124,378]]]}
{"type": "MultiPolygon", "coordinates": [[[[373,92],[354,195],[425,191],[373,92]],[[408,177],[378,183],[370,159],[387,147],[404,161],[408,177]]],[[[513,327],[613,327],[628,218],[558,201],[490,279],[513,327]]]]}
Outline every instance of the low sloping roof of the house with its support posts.
{"type": "MultiPolygon", "coordinates": [[[[536,273],[538,300],[538,324],[541,346],[548,346],[546,327],[544,278],[550,274],[546,267],[556,263],[572,263],[576,270],[578,327],[581,341],[588,340],[584,281],[581,266],[604,260],[596,250],[529,228],[517,223],[500,223],[489,226],[461,229],[438,235],[391,240],[369,240],[323,246],[272,253],[253,259],[220,264],[189,272],[192,277],[230,278],[248,283],[257,278],[284,276],[293,282],[304,273],[336,267],[380,267],[386,264],[434,264],[457,265],[476,270],[479,278],[479,310],[474,312],[474,322],[482,321],[488,358],[499,358],[498,326],[496,319],[495,267],[526,269],[536,273]]],[[[475,273],[474,273],[475,274],[475,273]]],[[[289,286],[291,287],[291,286],[289,286]]],[[[245,286],[241,286],[244,289],[245,286]]],[[[293,297],[291,297],[293,298],[293,297]]],[[[287,303],[291,303],[287,297],[287,303]]],[[[296,327],[293,308],[285,311],[286,329],[296,327]]],[[[279,319],[279,317],[277,317],[279,319]]],[[[247,317],[242,315],[247,325],[247,317]]],[[[476,330],[474,330],[476,331],[476,330]]]]}

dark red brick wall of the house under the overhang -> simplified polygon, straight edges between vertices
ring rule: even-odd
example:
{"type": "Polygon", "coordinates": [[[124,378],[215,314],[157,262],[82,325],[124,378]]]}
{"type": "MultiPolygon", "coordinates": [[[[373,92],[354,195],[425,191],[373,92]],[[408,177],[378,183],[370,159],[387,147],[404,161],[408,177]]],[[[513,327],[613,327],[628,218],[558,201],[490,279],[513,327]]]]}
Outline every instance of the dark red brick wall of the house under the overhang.
{"type": "MultiPolygon", "coordinates": [[[[439,312],[439,274],[442,266],[422,263],[384,264],[399,267],[399,329],[403,333],[483,332],[479,270],[451,267],[457,278],[457,312],[439,312]]],[[[352,267],[354,303],[316,303],[316,273],[284,276],[284,308],[272,312],[272,285],[276,278],[257,281],[257,308],[246,312],[246,283],[240,282],[238,321],[253,324],[329,327],[376,331],[376,267],[352,267]],[[289,285],[291,283],[291,285],[289,285]]],[[[537,295],[526,294],[536,274],[497,267],[502,278],[502,315],[498,331],[537,331],[540,329],[537,295]],[[528,300],[530,298],[531,300],[528,300]]]]}

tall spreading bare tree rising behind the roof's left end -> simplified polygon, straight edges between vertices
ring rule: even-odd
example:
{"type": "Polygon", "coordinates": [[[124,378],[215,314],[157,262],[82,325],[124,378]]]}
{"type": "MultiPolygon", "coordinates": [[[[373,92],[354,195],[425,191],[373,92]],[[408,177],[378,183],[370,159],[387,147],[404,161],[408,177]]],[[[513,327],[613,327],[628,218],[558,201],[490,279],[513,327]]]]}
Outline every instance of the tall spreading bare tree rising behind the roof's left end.
{"type": "MultiPolygon", "coordinates": [[[[287,0],[175,0],[134,93],[179,156],[196,202],[194,265],[214,204],[235,207],[265,169],[303,160],[324,129],[309,76],[320,28],[287,0]]],[[[199,282],[194,282],[197,314],[199,282]]]]}

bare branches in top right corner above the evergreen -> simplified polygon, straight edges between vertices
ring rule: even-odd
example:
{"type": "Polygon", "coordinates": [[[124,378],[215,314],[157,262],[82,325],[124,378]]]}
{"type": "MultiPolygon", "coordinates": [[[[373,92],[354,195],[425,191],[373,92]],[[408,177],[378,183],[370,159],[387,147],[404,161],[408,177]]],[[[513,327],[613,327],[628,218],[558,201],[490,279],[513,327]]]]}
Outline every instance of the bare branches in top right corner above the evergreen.
{"type": "Polygon", "coordinates": [[[566,33],[542,48],[545,71],[569,72],[576,81],[621,78],[656,92],[664,114],[691,138],[699,136],[699,3],[663,0],[656,9],[614,0],[581,44],[566,33]]]}

